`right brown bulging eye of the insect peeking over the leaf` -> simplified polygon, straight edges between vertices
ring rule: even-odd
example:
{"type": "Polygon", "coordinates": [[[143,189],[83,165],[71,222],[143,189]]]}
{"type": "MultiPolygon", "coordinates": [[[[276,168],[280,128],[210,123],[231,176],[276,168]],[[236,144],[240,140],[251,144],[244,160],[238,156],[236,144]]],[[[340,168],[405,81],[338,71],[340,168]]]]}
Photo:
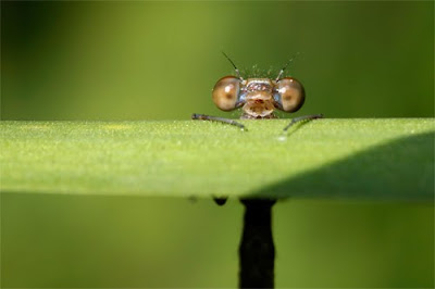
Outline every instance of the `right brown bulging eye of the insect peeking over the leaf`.
{"type": "Polygon", "coordinates": [[[296,112],[303,105],[306,91],[296,78],[285,77],[276,83],[273,98],[276,109],[285,112],[296,112]]]}

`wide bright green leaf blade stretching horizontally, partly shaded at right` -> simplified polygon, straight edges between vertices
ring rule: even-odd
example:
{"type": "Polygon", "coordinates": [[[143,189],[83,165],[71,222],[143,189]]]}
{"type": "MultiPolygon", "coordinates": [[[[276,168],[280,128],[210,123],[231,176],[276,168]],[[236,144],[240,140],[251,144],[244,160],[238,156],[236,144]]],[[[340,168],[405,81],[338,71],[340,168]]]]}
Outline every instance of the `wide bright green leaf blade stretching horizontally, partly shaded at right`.
{"type": "Polygon", "coordinates": [[[1,122],[1,191],[433,200],[434,118],[1,122]]]}

